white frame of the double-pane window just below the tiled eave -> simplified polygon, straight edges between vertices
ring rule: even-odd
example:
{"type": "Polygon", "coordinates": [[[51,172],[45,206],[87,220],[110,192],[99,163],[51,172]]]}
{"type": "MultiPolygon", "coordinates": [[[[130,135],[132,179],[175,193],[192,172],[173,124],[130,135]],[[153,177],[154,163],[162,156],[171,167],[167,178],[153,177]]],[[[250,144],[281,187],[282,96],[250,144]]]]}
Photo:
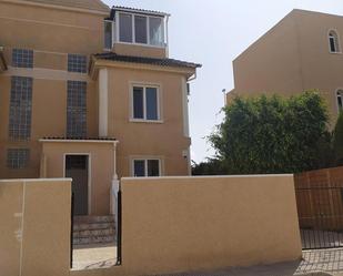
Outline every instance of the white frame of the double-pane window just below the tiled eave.
{"type": "Polygon", "coordinates": [[[143,123],[163,123],[162,120],[162,112],[161,112],[161,85],[159,84],[150,84],[150,83],[137,83],[133,82],[130,85],[130,122],[143,122],[143,123]],[[133,89],[134,88],[142,88],[143,89],[143,119],[134,117],[134,104],[133,104],[133,89]],[[149,120],[147,119],[147,89],[153,88],[157,89],[157,103],[158,103],[158,119],[157,120],[149,120]]]}

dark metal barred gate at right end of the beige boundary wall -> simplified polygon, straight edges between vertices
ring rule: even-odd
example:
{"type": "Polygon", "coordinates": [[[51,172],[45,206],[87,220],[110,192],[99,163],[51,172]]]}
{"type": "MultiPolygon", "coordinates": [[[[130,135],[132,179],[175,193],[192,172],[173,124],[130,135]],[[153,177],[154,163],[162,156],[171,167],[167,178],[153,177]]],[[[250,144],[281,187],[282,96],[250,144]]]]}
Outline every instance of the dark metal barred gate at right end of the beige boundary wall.
{"type": "Polygon", "coordinates": [[[343,247],[343,183],[295,185],[303,249],[343,247]]]}

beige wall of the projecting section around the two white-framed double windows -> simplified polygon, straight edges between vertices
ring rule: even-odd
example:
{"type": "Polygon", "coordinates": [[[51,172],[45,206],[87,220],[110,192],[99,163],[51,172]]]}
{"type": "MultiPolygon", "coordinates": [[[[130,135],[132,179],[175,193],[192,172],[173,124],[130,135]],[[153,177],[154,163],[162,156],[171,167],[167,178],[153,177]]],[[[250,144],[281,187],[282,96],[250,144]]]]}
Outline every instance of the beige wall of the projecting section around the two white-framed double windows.
{"type": "Polygon", "coordinates": [[[131,157],[162,160],[162,175],[188,175],[189,161],[182,154],[190,146],[183,133],[182,78],[178,73],[108,69],[109,136],[119,140],[119,176],[131,176],[131,157]],[[161,122],[131,122],[131,88],[134,84],[158,85],[161,122]],[[164,170],[163,170],[164,167],[164,170]]]}

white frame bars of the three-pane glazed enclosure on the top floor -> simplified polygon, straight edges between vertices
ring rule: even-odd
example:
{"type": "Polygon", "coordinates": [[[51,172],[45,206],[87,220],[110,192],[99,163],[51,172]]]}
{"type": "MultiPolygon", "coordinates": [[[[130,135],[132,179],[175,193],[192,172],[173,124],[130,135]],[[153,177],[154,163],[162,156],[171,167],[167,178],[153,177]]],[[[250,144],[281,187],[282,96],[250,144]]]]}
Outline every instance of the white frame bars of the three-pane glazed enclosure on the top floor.
{"type": "MultiPolygon", "coordinates": [[[[141,13],[131,13],[131,12],[125,12],[125,11],[120,11],[120,12],[115,12],[115,43],[120,43],[120,44],[130,44],[130,45],[142,45],[142,47],[151,47],[151,48],[160,48],[160,49],[164,49],[167,48],[167,42],[165,42],[165,22],[164,22],[164,18],[163,17],[155,17],[155,16],[145,16],[145,14],[141,14],[141,13]],[[129,14],[131,16],[131,20],[132,20],[132,40],[131,42],[123,42],[120,41],[120,22],[119,22],[119,17],[120,14],[129,14]],[[135,42],[135,29],[134,29],[134,17],[144,17],[147,18],[147,43],[138,43],[135,42]],[[158,18],[161,19],[162,21],[162,35],[163,35],[163,43],[161,45],[154,45],[154,44],[150,44],[150,18],[158,18]]],[[[114,38],[114,37],[113,37],[114,38]]]]}

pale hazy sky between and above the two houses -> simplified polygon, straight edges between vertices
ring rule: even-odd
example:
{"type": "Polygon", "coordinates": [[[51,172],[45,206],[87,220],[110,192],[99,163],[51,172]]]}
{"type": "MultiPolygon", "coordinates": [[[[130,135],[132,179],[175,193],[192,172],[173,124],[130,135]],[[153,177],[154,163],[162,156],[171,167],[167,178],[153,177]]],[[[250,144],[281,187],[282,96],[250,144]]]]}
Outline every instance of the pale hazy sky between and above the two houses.
{"type": "Polygon", "coordinates": [[[293,9],[343,16],[342,0],[103,0],[171,13],[169,57],[201,63],[191,82],[191,155],[213,156],[206,136],[221,123],[222,90],[234,88],[232,61],[293,9]]]}

